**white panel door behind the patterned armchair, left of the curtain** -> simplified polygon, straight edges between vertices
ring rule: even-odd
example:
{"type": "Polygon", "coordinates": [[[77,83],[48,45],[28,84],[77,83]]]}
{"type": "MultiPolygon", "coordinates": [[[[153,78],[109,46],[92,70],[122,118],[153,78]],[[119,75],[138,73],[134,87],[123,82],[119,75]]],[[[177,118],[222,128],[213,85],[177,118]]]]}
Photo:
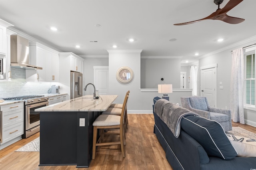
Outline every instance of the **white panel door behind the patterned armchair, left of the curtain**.
{"type": "Polygon", "coordinates": [[[207,97],[208,103],[216,107],[216,67],[201,70],[201,96],[207,97]]]}

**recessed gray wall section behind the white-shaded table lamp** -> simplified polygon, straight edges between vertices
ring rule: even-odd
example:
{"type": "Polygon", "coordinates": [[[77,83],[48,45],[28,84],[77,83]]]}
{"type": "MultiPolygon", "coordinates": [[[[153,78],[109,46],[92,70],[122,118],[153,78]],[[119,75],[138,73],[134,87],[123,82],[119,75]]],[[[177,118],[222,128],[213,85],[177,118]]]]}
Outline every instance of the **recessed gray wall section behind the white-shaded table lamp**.
{"type": "Polygon", "coordinates": [[[142,89],[157,89],[158,84],[172,84],[172,88],[180,88],[180,59],[142,58],[140,67],[142,89]]]}

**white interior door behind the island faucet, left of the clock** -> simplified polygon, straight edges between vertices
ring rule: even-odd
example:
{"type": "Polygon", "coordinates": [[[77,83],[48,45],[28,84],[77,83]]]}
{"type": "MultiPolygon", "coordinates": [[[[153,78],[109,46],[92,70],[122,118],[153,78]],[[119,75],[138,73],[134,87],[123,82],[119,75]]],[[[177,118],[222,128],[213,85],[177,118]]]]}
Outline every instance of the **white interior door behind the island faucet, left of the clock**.
{"type": "Polygon", "coordinates": [[[94,85],[99,95],[108,94],[108,66],[94,66],[94,85]]]}

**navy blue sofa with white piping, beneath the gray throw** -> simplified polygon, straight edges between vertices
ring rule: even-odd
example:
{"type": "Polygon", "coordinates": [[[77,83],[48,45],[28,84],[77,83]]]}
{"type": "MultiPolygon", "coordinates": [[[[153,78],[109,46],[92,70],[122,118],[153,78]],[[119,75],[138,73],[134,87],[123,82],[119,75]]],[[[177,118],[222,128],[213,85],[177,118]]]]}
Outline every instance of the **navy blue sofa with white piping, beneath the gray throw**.
{"type": "MultiPolygon", "coordinates": [[[[158,100],[164,99],[155,97],[153,100],[154,133],[174,170],[256,169],[256,157],[238,157],[223,128],[216,121],[185,115],[180,120],[180,134],[175,136],[162,119],[162,113],[156,113],[155,107],[163,107],[160,110],[185,108],[169,101],[158,105],[158,100]]],[[[183,112],[191,111],[185,109],[183,112]]]]}

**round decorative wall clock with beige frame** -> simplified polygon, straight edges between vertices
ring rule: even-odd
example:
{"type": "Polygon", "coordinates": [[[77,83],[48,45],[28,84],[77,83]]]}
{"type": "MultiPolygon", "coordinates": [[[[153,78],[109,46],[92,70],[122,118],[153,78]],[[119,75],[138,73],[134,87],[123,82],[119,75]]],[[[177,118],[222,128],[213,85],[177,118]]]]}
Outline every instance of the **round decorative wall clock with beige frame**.
{"type": "Polygon", "coordinates": [[[120,67],[116,71],[116,79],[123,84],[130,83],[134,77],[132,69],[130,67],[120,67]]]}

